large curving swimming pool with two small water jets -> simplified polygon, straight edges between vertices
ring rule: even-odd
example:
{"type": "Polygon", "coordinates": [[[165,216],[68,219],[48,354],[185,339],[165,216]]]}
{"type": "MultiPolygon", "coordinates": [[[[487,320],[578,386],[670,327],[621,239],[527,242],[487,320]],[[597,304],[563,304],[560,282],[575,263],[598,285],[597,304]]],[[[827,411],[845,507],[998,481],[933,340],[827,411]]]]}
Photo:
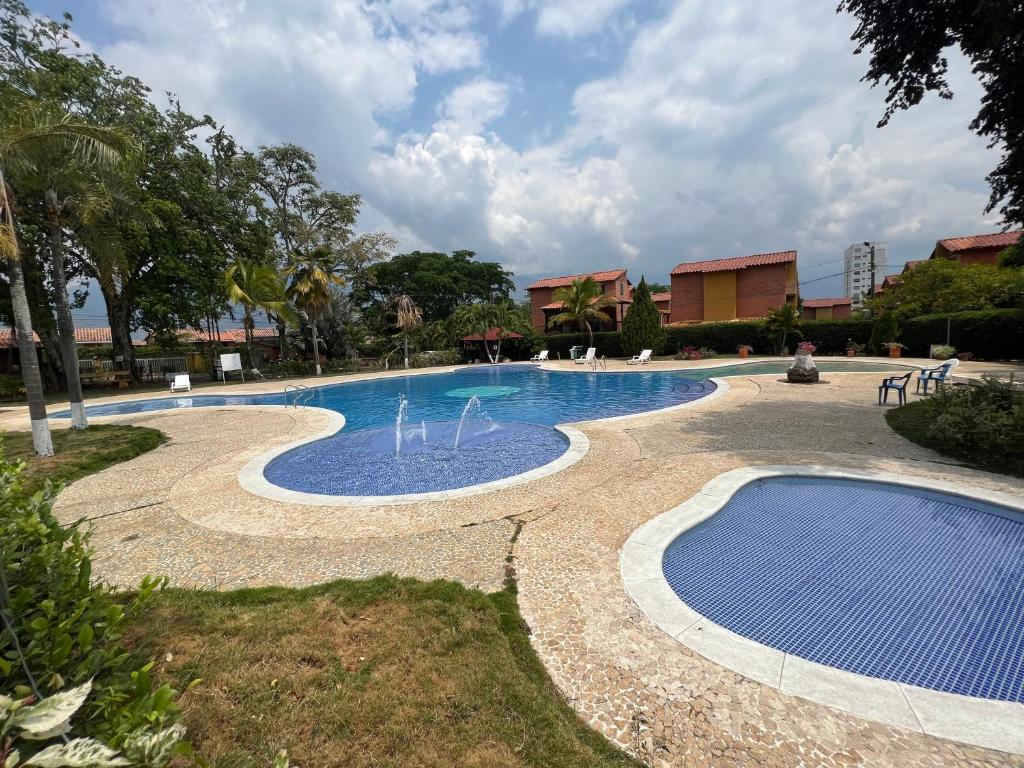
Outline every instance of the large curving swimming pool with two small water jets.
{"type": "MultiPolygon", "coordinates": [[[[259,471],[271,486],[342,500],[479,486],[552,467],[564,458],[571,450],[570,442],[564,430],[554,429],[555,425],[681,406],[715,392],[712,377],[781,374],[787,366],[785,361],[753,362],[629,373],[472,366],[447,373],[326,385],[308,390],[303,401],[342,414],[344,429],[296,445],[259,471]]],[[[827,361],[819,368],[893,370],[879,364],[827,361]]],[[[292,393],[293,400],[295,396],[292,393]]],[[[188,395],[90,406],[86,413],[121,416],[287,402],[284,392],[188,395]]]]}

